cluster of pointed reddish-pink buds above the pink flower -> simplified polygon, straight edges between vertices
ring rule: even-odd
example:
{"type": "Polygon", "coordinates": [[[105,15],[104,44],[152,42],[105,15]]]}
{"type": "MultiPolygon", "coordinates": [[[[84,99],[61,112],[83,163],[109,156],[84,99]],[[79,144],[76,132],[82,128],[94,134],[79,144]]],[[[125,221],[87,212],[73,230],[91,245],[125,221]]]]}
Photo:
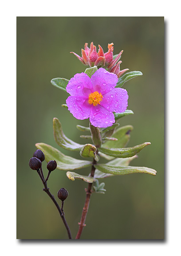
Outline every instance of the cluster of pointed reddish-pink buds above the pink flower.
{"type": "Polygon", "coordinates": [[[82,49],[82,57],[80,57],[78,54],[74,53],[74,55],[83,63],[83,65],[89,65],[90,67],[93,66],[102,66],[107,67],[108,71],[111,73],[115,73],[118,78],[127,70],[129,69],[123,69],[120,70],[120,64],[122,61],[119,61],[121,58],[121,55],[123,53],[123,50],[118,54],[118,56],[113,59],[113,50],[114,50],[114,44],[108,44],[108,51],[104,53],[102,47],[98,45],[99,50],[98,53],[96,51],[96,46],[91,42],[90,48],[87,46],[86,43],[84,45],[84,49],[82,49]],[[119,61],[119,62],[118,62],[119,61]]]}

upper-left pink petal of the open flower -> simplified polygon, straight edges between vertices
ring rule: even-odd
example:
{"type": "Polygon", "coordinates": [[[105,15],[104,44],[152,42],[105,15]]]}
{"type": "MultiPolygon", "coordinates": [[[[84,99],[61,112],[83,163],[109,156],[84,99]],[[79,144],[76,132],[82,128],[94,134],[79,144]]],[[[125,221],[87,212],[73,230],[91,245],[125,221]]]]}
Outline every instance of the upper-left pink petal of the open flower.
{"type": "Polygon", "coordinates": [[[91,78],[86,73],[77,73],[68,82],[66,90],[71,96],[83,96],[88,98],[89,94],[93,92],[91,78]]]}

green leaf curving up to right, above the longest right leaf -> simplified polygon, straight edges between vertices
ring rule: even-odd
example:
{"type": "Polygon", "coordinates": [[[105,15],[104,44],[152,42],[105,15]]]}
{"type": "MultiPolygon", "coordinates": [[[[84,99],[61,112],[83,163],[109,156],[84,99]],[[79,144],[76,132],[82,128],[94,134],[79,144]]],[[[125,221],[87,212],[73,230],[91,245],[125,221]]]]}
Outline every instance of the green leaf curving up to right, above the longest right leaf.
{"type": "MultiPolygon", "coordinates": [[[[116,143],[116,142],[115,142],[116,143]]],[[[150,142],[145,142],[143,144],[140,144],[138,146],[134,147],[127,147],[127,148],[104,148],[100,147],[99,151],[108,154],[110,156],[118,157],[118,158],[127,158],[132,157],[135,154],[138,154],[144,147],[147,145],[150,145],[150,142]]]]}

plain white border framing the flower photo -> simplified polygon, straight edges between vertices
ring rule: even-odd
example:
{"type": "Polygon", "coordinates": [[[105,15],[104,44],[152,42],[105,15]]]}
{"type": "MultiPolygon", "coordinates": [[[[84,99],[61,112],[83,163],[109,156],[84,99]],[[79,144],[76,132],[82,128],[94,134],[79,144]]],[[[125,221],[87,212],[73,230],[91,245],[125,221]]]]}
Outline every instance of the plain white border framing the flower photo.
{"type": "MultiPolygon", "coordinates": [[[[3,255],[50,254],[69,255],[171,255],[180,251],[180,8],[178,1],[110,1],[61,0],[3,1],[0,24],[1,73],[1,228],[3,255]],[[50,4],[51,3],[51,4],[50,4]],[[16,168],[10,177],[8,169],[16,167],[16,16],[165,16],[165,170],[166,170],[166,239],[157,242],[20,243],[16,240],[16,168]],[[13,126],[10,125],[11,122],[13,126]],[[8,202],[7,202],[8,199],[8,202]],[[11,209],[9,208],[11,202],[11,209]],[[174,248],[174,252],[173,252],[174,248]]],[[[11,172],[12,173],[12,172],[11,172]]]]}

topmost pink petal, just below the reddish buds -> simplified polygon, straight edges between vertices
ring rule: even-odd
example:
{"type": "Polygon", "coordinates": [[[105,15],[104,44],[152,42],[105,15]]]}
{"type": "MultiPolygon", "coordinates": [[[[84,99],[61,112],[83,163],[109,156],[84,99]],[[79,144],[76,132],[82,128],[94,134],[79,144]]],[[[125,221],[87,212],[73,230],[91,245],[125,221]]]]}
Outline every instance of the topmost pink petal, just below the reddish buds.
{"type": "Polygon", "coordinates": [[[116,86],[118,77],[116,74],[106,71],[106,69],[99,68],[98,71],[92,75],[91,82],[94,91],[98,91],[98,93],[104,95],[116,86]]]}

